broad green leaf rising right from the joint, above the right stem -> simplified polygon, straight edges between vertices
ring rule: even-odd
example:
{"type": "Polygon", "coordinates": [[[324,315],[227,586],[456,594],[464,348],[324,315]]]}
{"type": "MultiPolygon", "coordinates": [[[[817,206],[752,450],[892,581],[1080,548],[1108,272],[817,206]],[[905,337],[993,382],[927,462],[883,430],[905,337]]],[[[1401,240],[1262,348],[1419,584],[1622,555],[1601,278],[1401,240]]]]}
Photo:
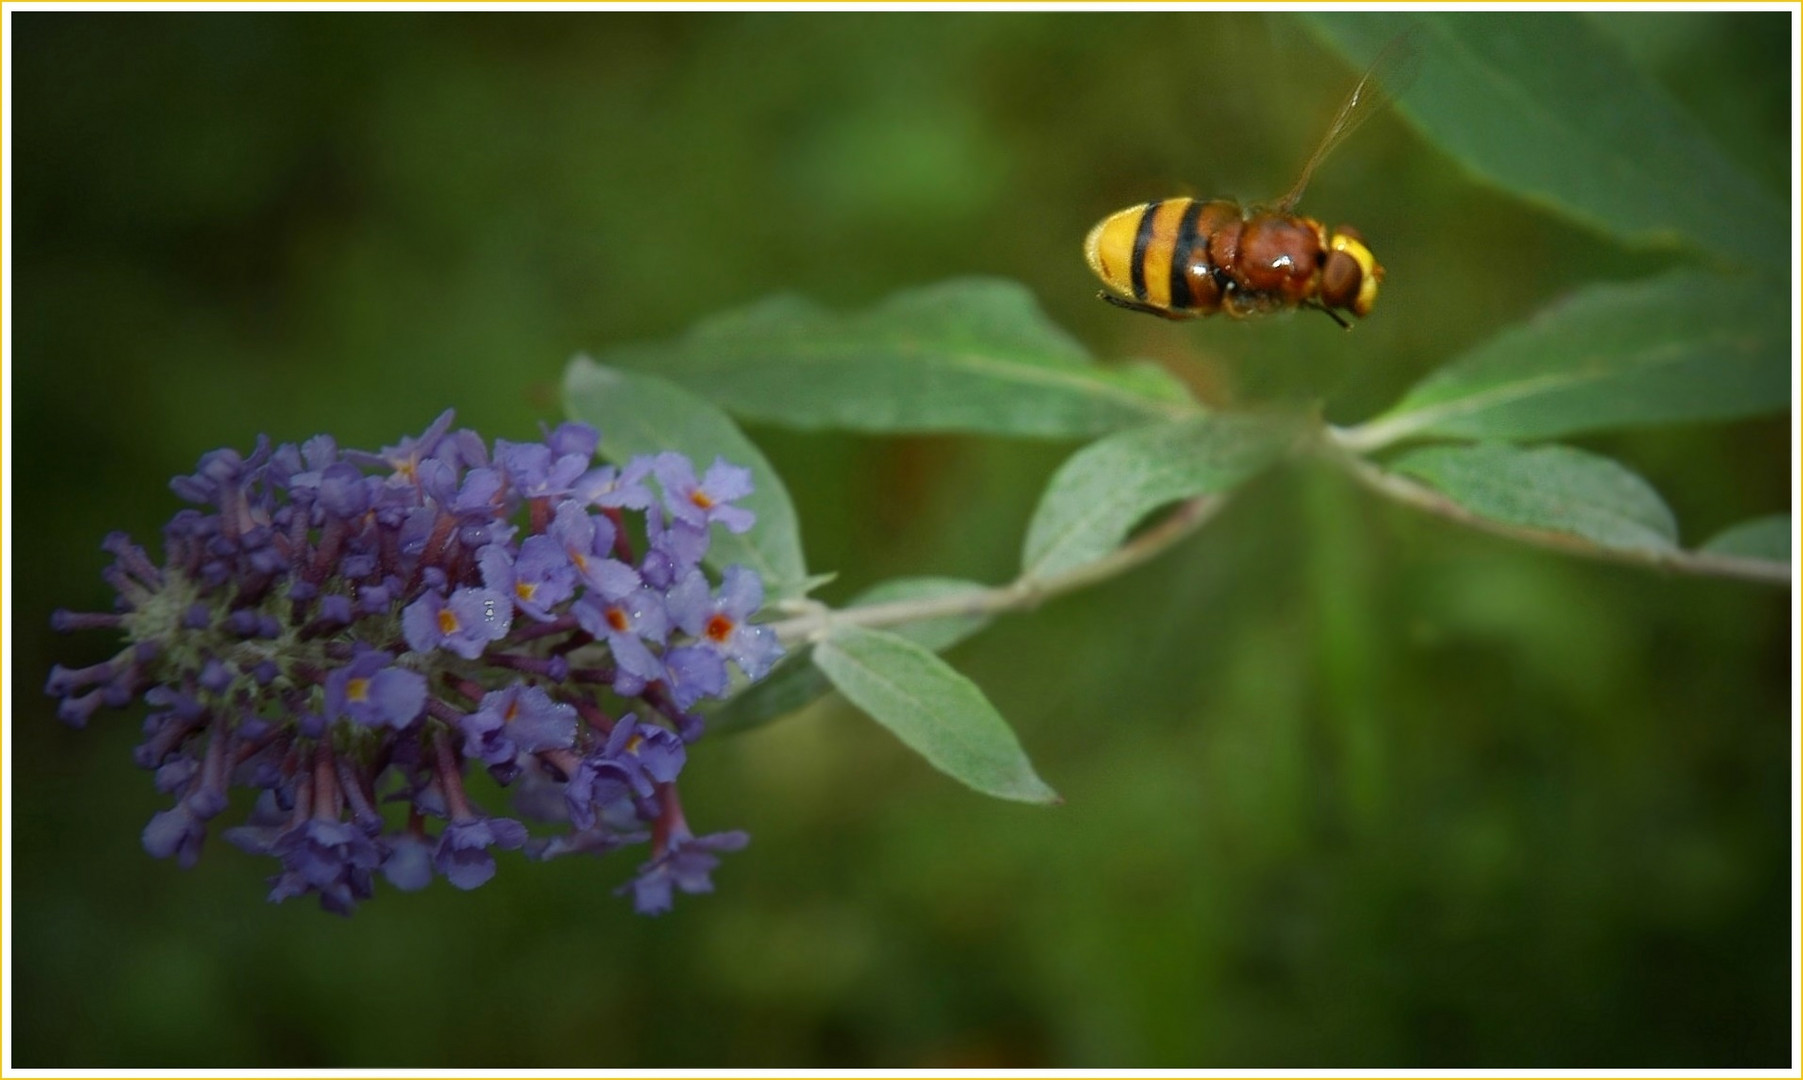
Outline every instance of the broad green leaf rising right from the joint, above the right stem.
{"type": "Polygon", "coordinates": [[[1776,413],[1790,402],[1789,305],[1695,270],[1592,285],[1428,375],[1350,438],[1547,438],[1776,413]]]}

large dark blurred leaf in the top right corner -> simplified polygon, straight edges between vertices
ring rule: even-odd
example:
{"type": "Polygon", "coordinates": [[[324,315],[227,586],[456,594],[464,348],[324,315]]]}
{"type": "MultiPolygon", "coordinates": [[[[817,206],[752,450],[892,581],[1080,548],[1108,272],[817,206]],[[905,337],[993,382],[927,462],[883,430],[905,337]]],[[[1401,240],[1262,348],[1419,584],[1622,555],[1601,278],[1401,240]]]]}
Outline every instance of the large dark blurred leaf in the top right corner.
{"type": "Polygon", "coordinates": [[[1318,13],[1358,63],[1419,27],[1415,126],[1473,175],[1634,245],[1787,267],[1785,204],[1576,13],[1318,13]]]}

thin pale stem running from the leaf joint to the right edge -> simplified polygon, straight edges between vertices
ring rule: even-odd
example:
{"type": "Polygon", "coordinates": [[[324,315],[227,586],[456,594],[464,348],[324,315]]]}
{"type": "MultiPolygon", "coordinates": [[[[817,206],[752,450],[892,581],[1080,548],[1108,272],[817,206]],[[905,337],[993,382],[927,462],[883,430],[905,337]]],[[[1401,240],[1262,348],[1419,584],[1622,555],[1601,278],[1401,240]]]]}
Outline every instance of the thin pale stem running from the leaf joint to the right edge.
{"type": "Polygon", "coordinates": [[[1358,431],[1359,429],[1352,429],[1349,433],[1336,427],[1325,427],[1322,431],[1322,438],[1316,440],[1318,456],[1327,458],[1345,472],[1352,474],[1352,478],[1361,485],[1385,496],[1387,499],[1394,499],[1417,510],[1426,510],[1435,517],[1446,517],[1448,521],[1469,525],[1471,528],[1480,528],[1513,541],[1565,552],[1567,555],[1583,555],[1588,559],[1605,559],[1610,563],[1626,563],[1630,566],[1652,566],[1706,577],[1733,577],[1762,584],[1790,584],[1789,563],[1749,559],[1745,555],[1718,555],[1713,552],[1684,552],[1677,548],[1668,552],[1605,548],[1569,532],[1552,532],[1547,528],[1531,528],[1525,525],[1509,525],[1493,517],[1482,517],[1446,498],[1439,490],[1399,472],[1390,472],[1388,469],[1367,460],[1358,451],[1363,449],[1368,440],[1359,438],[1358,431]]]}

